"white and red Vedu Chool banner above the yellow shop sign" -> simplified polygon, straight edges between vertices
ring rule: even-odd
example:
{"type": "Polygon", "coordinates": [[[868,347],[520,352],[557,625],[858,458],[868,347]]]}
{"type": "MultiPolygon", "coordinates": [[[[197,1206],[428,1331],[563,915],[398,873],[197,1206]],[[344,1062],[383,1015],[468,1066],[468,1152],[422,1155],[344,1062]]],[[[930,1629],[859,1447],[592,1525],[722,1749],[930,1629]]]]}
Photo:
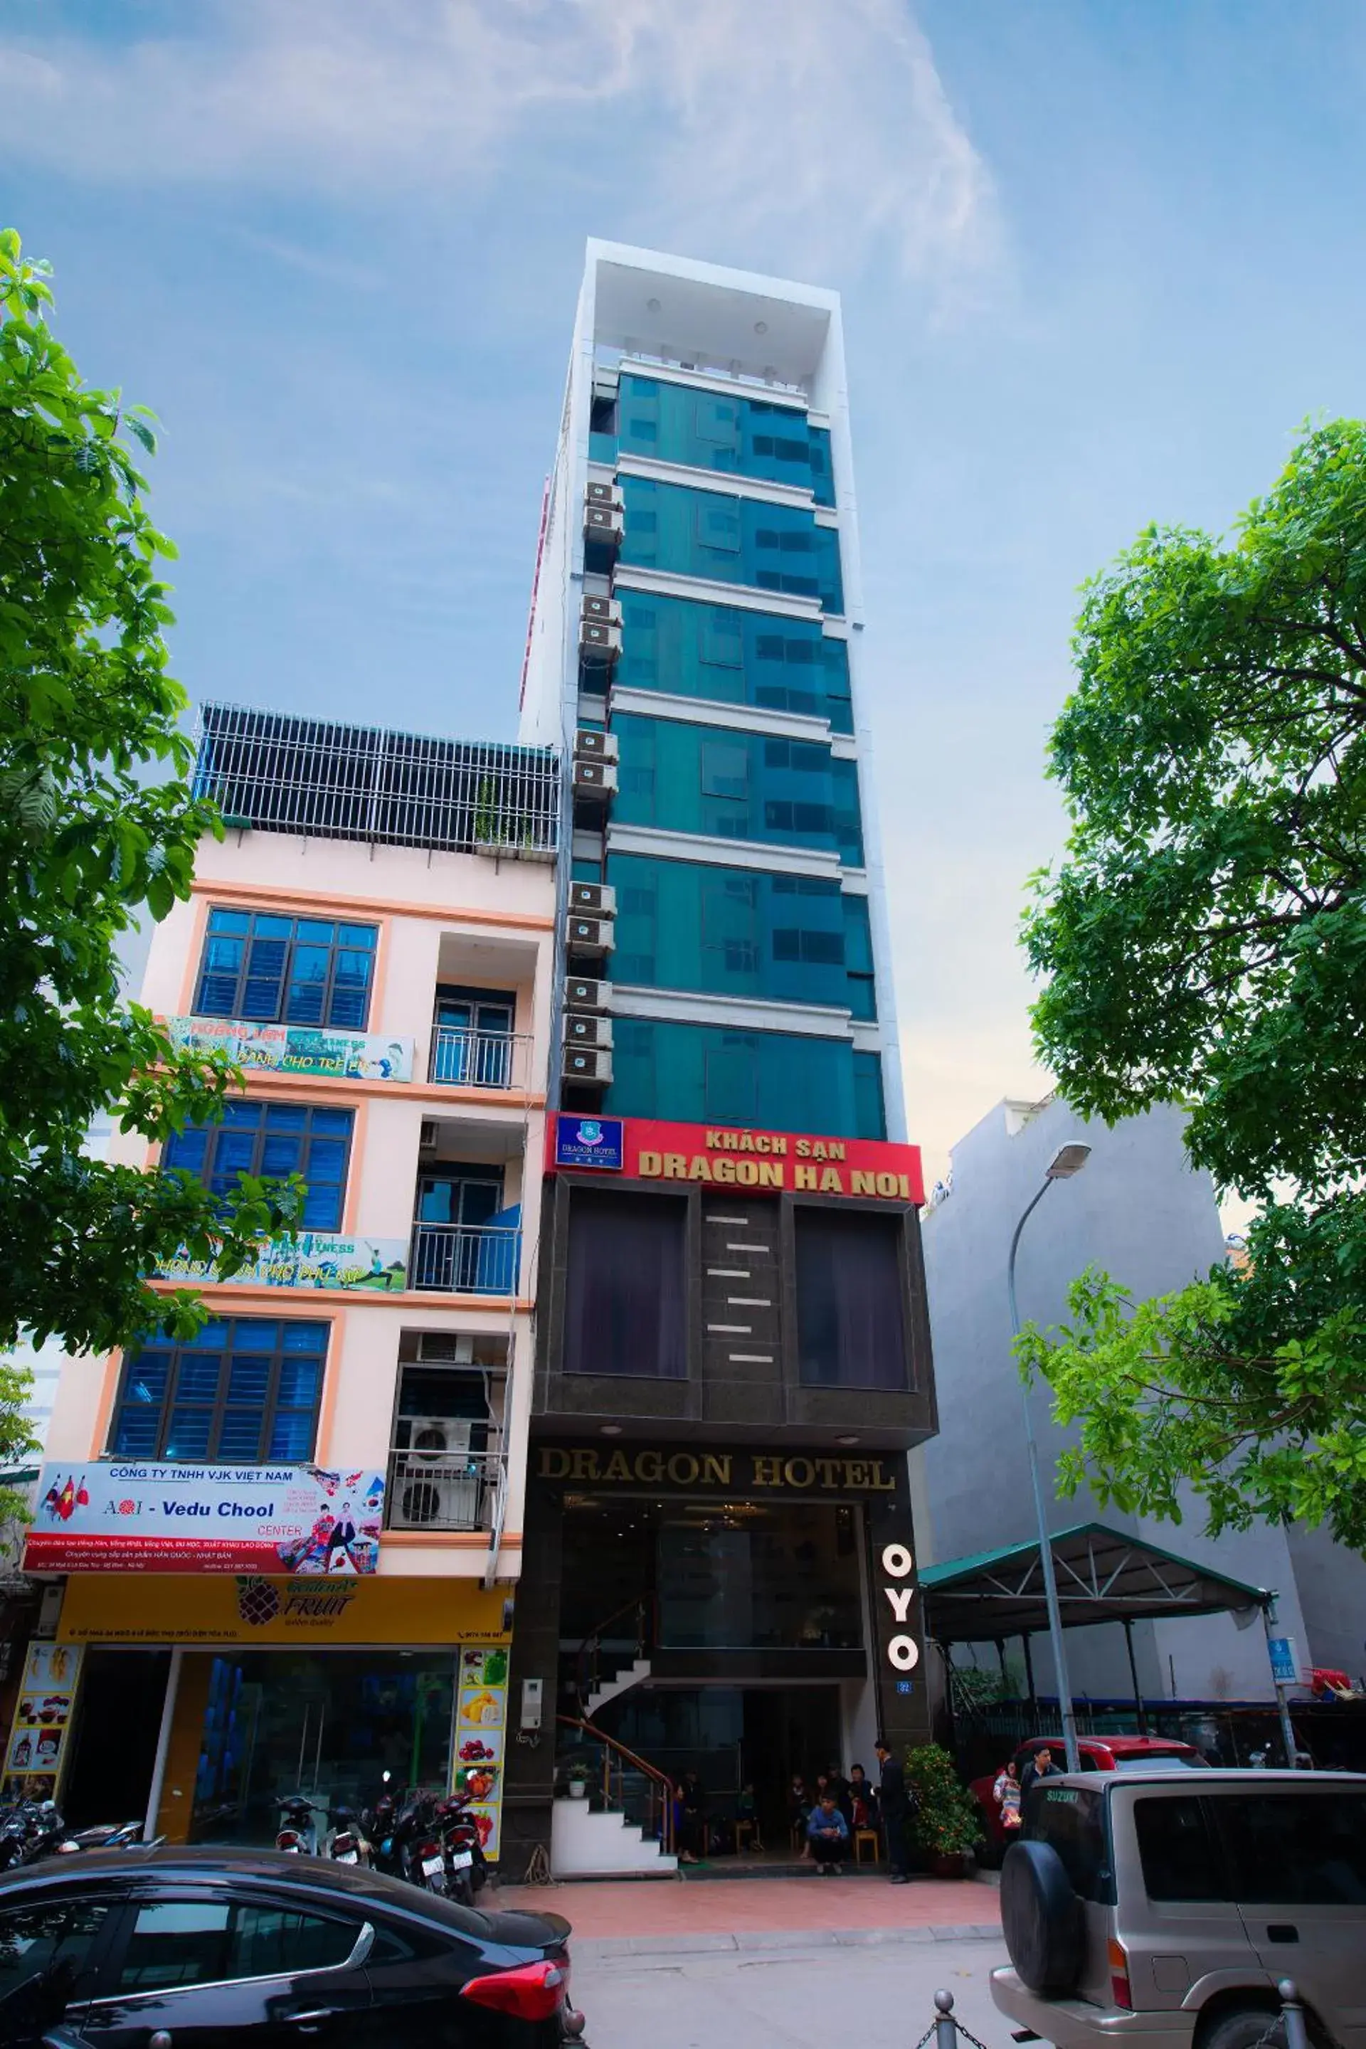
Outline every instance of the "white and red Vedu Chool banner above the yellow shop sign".
{"type": "Polygon", "coordinates": [[[385,1475],[317,1465],[45,1465],[25,1572],[375,1572],[385,1475]]]}

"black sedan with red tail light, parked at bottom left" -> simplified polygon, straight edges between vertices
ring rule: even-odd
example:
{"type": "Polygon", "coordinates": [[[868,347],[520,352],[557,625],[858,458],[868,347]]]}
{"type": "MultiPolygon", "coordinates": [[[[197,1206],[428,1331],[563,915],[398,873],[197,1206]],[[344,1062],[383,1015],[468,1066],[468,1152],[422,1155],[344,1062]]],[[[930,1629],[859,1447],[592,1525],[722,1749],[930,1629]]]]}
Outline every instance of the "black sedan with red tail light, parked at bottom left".
{"type": "Polygon", "coordinates": [[[561,2049],[569,1922],[274,1850],[106,1850],[0,1879],[4,2049],[561,2049]]]}

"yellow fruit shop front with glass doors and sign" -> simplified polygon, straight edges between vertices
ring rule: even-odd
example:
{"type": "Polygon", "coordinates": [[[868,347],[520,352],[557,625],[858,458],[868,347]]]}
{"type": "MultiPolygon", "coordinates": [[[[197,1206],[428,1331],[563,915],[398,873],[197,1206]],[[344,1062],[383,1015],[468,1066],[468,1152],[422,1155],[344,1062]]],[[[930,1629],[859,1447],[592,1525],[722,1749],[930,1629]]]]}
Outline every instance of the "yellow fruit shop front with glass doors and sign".
{"type": "Polygon", "coordinates": [[[471,1580],[74,1574],[63,1807],[268,1844],[285,1793],[326,1809],[459,1789],[496,1860],[510,1639],[506,1590],[471,1580]]]}

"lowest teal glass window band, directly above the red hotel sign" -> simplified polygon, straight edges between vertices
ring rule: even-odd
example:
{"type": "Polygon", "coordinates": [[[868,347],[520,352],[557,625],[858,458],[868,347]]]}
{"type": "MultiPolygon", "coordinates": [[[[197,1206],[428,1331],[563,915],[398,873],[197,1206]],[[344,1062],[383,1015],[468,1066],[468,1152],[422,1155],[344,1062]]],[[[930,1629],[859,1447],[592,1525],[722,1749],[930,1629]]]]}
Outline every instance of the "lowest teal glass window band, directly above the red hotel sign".
{"type": "Polygon", "coordinates": [[[831,1137],[883,1139],[881,1061],[846,1039],[616,1018],[608,1117],[793,1129],[793,1104],[831,1137]]]}

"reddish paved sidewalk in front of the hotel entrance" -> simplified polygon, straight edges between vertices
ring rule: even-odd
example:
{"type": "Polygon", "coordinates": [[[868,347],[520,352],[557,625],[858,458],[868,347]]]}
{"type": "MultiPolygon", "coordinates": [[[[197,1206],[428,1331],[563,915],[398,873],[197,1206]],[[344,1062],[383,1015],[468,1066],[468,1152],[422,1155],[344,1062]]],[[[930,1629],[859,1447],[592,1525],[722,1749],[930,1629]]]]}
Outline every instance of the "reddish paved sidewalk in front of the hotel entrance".
{"type": "Polygon", "coordinates": [[[999,1940],[1001,1934],[999,1893],[991,1885],[944,1879],[502,1885],[498,1906],[563,1914],[573,1926],[575,1957],[999,1940]]]}

